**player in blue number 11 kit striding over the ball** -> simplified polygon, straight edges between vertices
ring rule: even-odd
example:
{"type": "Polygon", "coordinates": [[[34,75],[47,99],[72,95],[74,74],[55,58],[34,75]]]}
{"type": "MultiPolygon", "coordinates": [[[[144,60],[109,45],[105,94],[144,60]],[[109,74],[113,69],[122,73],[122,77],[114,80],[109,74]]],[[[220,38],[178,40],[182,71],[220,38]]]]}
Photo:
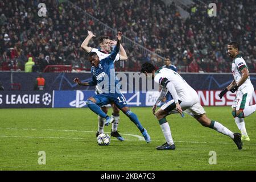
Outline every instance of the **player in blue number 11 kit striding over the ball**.
{"type": "Polygon", "coordinates": [[[119,80],[115,77],[114,60],[119,52],[121,38],[122,32],[118,32],[117,44],[113,52],[105,59],[100,60],[96,52],[89,53],[89,61],[92,64],[92,81],[82,83],[79,78],[75,78],[74,81],[79,85],[100,86],[102,93],[88,98],[86,104],[90,110],[106,119],[105,126],[109,125],[111,119],[101,110],[100,106],[114,103],[132,122],[135,123],[148,143],[150,142],[150,135],[148,135],[147,130],[144,129],[141,122],[139,122],[137,115],[129,109],[125,97],[119,90],[119,80]]]}

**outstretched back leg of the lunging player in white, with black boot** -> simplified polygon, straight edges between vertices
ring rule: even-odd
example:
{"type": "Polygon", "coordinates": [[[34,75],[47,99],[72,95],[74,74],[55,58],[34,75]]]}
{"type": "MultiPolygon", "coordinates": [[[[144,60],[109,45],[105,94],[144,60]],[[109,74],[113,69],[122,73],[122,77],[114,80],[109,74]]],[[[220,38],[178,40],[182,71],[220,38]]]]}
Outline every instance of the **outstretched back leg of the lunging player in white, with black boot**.
{"type": "Polygon", "coordinates": [[[233,133],[228,128],[223,126],[221,123],[217,121],[210,120],[206,114],[193,115],[201,123],[202,126],[209,127],[213,130],[218,131],[221,134],[227,135],[234,140],[238,149],[242,149],[242,140],[240,133],[233,133]]]}

